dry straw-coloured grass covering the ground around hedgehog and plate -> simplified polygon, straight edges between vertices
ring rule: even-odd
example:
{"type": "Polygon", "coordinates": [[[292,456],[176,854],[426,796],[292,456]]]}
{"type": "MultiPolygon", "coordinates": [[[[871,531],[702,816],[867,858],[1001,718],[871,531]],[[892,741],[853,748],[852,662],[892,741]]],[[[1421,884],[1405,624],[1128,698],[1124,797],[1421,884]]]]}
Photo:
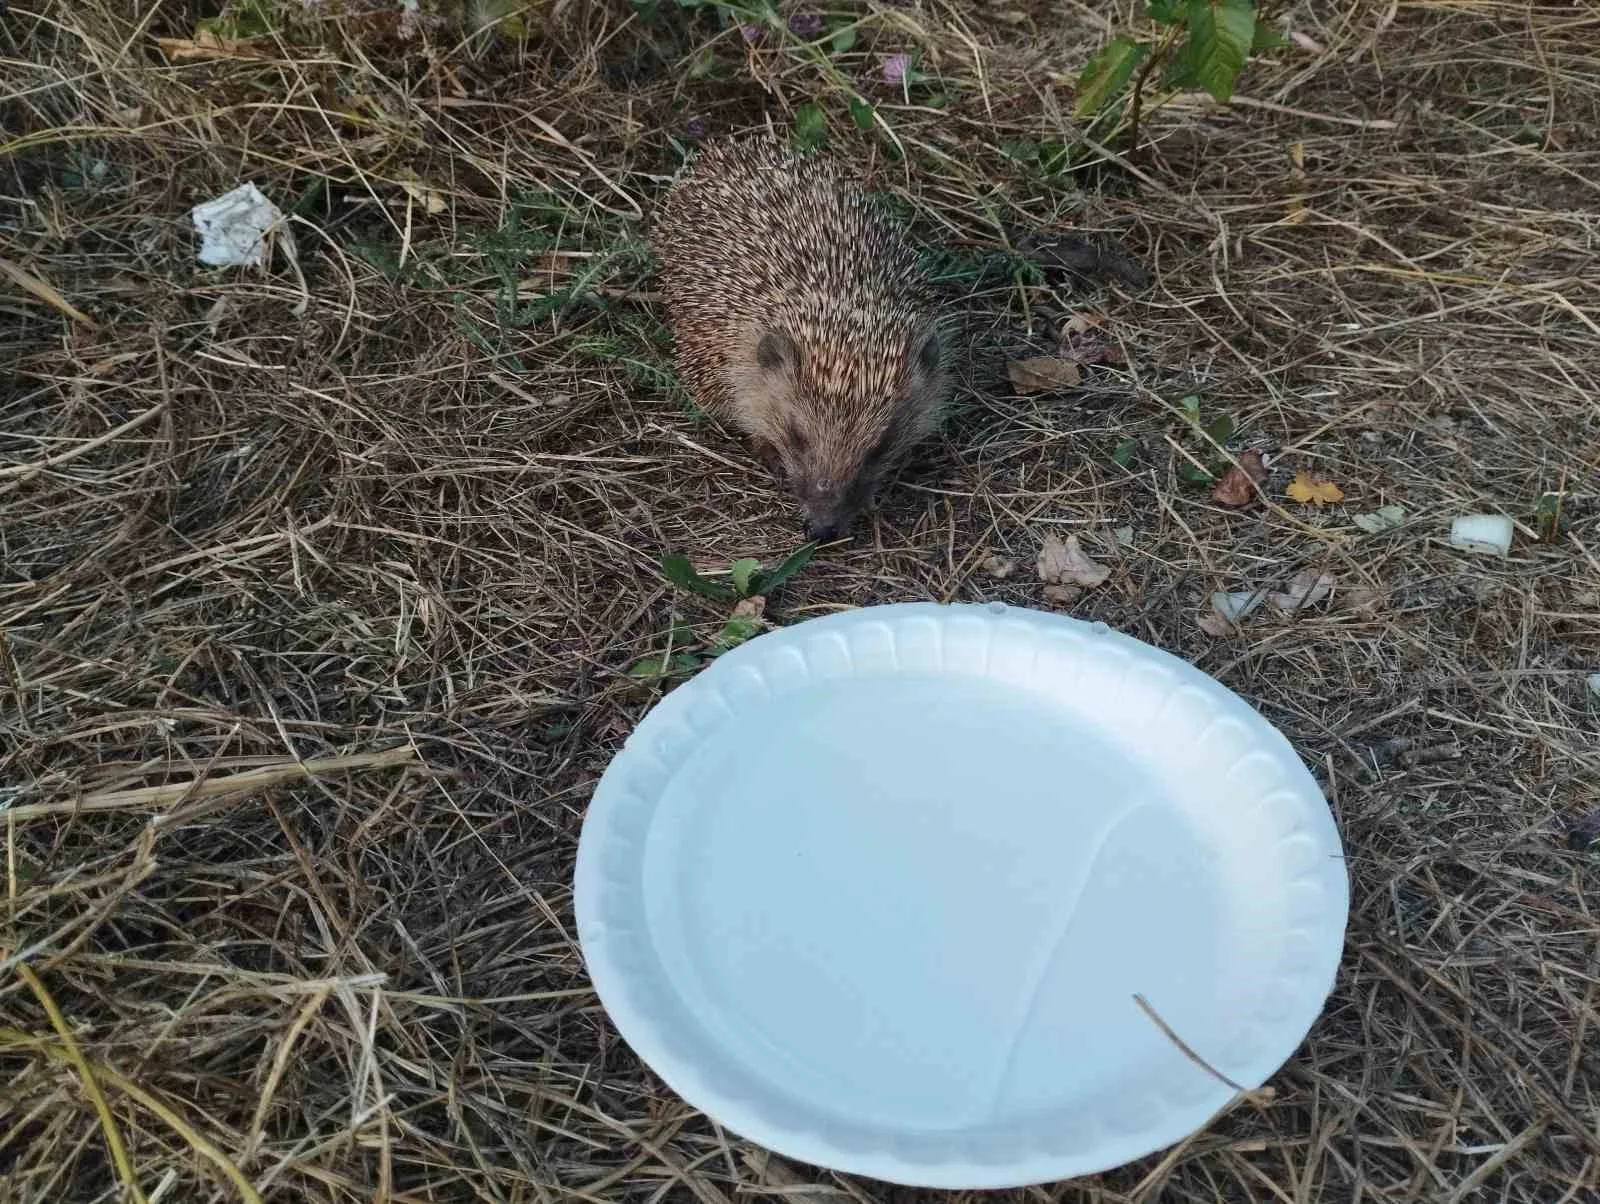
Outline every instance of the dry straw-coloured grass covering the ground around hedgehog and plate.
{"type": "Polygon", "coordinates": [[[672,3],[654,32],[549,0],[530,38],[411,42],[330,3],[170,64],[179,8],[21,0],[0,29],[3,1199],[914,1198],[766,1167],[667,1094],[570,914],[586,799],[653,696],[622,671],[675,608],[720,620],[659,554],[797,541],[670,383],[638,218],[690,118],[813,98],[955,253],[974,368],[778,618],[1038,605],[982,562],[1077,532],[1115,573],[1075,612],[1259,704],[1349,849],[1338,991],[1272,1100],[1027,1198],[1600,1199],[1600,866],[1566,839],[1600,809],[1600,11],[1299,3],[1310,43],[1238,104],[1162,110],[1136,176],[1074,179],[1016,144],[1074,144],[1056,72],[1106,6],[874,3],[830,62],[672,3]],[[898,160],[837,85],[912,48],[936,85],[867,85],[898,160]],[[195,264],[187,208],[240,179],[296,207],[304,283],[195,264]],[[1010,256],[1069,224],[1154,283],[1010,256]],[[1126,363],[1011,395],[1000,357],[1078,309],[1126,363]],[[1349,504],[1182,487],[1190,391],[1282,448],[1275,496],[1309,468],[1349,504]],[[1563,488],[1570,530],[1533,540],[1563,488]],[[1384,503],[1403,528],[1350,525],[1384,503]],[[1510,559],[1448,548],[1477,509],[1523,522],[1510,559]],[[1197,628],[1307,565],[1338,580],[1314,612],[1197,628]]]}

